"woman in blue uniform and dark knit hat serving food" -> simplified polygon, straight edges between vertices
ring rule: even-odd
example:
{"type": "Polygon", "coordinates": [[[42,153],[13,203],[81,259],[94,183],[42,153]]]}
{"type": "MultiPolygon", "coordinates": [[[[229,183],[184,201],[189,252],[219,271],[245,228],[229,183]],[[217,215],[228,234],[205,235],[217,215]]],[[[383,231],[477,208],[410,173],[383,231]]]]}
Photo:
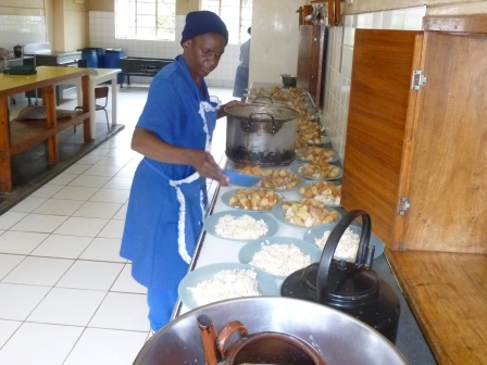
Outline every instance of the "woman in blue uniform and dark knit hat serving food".
{"type": "Polygon", "coordinates": [[[209,11],[186,16],[183,54],[154,77],[135,128],[132,148],[145,158],[130,190],[121,255],[148,288],[153,331],[171,319],[207,209],[205,178],[228,185],[210,154],[216,118],[224,116],[204,77],[228,42],[223,21],[209,11]]]}

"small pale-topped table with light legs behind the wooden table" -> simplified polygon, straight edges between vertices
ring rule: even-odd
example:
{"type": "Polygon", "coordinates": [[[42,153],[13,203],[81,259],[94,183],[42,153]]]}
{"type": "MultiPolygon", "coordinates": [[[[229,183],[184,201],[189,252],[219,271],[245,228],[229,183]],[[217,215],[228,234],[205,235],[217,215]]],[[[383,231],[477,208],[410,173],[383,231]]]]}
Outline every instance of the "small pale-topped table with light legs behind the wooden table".
{"type": "MultiPolygon", "coordinates": [[[[116,75],[122,72],[120,68],[88,68],[89,70],[89,119],[91,136],[96,138],[96,100],[95,100],[95,88],[103,83],[111,81],[112,91],[112,125],[116,125],[116,75]]],[[[82,105],[82,85],[77,83],[76,85],[77,101],[78,105],[82,105]]]]}

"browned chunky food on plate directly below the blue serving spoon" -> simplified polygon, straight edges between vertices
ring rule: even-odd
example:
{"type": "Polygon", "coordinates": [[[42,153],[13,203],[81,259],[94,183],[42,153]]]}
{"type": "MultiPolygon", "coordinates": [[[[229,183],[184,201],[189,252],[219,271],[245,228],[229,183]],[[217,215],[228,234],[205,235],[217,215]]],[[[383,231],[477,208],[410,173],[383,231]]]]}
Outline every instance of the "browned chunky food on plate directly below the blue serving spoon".
{"type": "Polygon", "coordinates": [[[282,200],[280,194],[267,189],[237,189],[228,198],[228,204],[249,211],[271,211],[282,200]]]}

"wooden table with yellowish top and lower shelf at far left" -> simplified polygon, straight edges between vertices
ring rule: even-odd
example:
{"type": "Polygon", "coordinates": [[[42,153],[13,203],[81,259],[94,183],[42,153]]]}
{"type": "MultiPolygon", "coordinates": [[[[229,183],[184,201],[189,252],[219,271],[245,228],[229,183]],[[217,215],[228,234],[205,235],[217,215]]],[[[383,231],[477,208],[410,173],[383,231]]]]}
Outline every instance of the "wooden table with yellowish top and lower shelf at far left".
{"type": "Polygon", "coordinates": [[[58,162],[58,133],[84,122],[85,141],[91,140],[89,121],[89,73],[86,68],[38,66],[34,75],[0,74],[0,191],[12,191],[11,156],[45,140],[48,141],[49,163],[58,162]],[[54,86],[66,80],[80,79],[83,112],[71,112],[71,117],[57,119],[54,86]],[[9,97],[42,89],[42,104],[47,118],[29,122],[10,121],[9,97]]]}

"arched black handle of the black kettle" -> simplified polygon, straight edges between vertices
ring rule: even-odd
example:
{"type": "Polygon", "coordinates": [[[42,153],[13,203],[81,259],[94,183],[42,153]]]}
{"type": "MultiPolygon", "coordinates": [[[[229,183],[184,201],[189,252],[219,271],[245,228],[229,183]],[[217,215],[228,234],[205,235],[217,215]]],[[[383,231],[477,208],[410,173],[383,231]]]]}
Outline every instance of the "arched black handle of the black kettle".
{"type": "Polygon", "coordinates": [[[332,260],[337,249],[341,236],[344,236],[348,226],[359,216],[362,216],[362,231],[360,235],[359,250],[355,256],[354,268],[358,269],[365,265],[369,241],[371,239],[371,216],[367,212],[357,210],[348,212],[335,226],[326,240],[322,257],[316,274],[316,302],[325,303],[328,294],[328,276],[332,267],[332,260]]]}

